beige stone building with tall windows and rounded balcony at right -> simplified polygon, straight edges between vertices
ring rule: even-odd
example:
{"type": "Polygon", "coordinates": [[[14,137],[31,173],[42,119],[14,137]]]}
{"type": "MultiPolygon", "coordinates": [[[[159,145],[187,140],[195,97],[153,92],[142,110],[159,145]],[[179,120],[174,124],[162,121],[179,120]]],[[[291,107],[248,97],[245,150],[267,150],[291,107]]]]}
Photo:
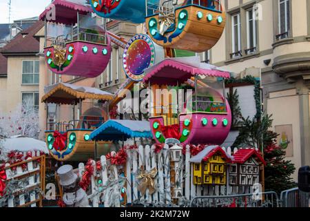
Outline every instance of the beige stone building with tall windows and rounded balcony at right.
{"type": "MultiPolygon", "coordinates": [[[[209,52],[234,73],[260,68],[264,108],[291,142],[287,159],[310,165],[310,0],[225,0],[227,26],[209,52]]],[[[294,174],[297,180],[297,171],[294,174]]]]}

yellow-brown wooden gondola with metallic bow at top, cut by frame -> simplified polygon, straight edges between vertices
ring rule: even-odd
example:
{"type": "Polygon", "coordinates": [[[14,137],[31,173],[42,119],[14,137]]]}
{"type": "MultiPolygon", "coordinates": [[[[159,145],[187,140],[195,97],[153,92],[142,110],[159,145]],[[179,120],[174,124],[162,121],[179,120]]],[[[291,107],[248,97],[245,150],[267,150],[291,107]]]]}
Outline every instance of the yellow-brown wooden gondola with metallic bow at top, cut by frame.
{"type": "Polygon", "coordinates": [[[147,0],[149,36],[165,48],[209,50],[222,36],[225,23],[225,9],[218,0],[147,0]]]}

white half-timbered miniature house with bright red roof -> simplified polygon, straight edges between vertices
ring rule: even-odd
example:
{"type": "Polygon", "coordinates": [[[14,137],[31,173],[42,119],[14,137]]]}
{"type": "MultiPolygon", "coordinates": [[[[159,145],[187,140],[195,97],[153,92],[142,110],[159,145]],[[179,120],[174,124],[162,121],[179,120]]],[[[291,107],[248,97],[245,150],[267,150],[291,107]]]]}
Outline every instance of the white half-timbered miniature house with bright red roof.
{"type": "Polygon", "coordinates": [[[229,165],[229,184],[231,186],[252,186],[259,182],[260,165],[264,159],[255,149],[239,149],[234,153],[233,163],[229,165]]]}

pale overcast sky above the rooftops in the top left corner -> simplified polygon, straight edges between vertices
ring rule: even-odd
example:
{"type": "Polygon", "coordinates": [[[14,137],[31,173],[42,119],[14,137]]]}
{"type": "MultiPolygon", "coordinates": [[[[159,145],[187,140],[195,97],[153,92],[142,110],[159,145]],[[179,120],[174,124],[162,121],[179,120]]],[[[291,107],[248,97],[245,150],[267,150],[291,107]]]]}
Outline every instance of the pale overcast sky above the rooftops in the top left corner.
{"type": "MultiPolygon", "coordinates": [[[[8,23],[10,0],[0,0],[0,23],[8,23]]],[[[11,21],[39,17],[51,0],[11,0],[11,21]]]]}

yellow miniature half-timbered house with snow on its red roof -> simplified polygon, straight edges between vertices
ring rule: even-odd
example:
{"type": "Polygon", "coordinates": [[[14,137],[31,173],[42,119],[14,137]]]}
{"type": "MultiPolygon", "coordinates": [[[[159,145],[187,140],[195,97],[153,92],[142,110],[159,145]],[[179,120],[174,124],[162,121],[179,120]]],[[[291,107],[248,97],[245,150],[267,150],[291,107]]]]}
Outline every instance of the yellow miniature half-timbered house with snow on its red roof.
{"type": "Polygon", "coordinates": [[[220,146],[208,146],[189,162],[192,162],[194,184],[226,184],[227,163],[231,162],[231,156],[220,146]]]}

